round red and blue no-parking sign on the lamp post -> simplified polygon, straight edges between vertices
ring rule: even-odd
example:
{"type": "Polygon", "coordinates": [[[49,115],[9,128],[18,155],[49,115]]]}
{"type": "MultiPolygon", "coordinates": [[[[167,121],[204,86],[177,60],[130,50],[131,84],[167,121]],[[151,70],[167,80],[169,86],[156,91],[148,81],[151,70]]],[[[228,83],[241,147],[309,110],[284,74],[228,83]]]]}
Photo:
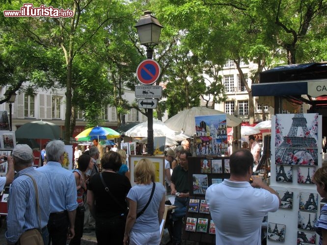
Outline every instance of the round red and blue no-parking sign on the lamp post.
{"type": "Polygon", "coordinates": [[[136,69],[137,80],[144,85],[151,85],[160,75],[160,66],[152,59],[143,60],[136,69]]]}

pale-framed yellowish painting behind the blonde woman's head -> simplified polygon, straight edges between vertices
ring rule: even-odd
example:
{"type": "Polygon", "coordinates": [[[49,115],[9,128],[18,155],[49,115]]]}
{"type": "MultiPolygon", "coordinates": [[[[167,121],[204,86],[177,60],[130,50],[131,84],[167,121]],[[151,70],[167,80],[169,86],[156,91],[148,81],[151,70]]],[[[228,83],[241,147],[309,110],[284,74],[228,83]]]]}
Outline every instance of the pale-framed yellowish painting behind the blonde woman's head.
{"type": "Polygon", "coordinates": [[[139,160],[147,158],[153,164],[155,165],[156,168],[156,182],[162,183],[164,186],[164,156],[138,156],[138,155],[130,155],[130,172],[131,172],[131,185],[134,186],[136,185],[135,179],[134,179],[134,169],[136,164],[138,163],[139,160]]]}

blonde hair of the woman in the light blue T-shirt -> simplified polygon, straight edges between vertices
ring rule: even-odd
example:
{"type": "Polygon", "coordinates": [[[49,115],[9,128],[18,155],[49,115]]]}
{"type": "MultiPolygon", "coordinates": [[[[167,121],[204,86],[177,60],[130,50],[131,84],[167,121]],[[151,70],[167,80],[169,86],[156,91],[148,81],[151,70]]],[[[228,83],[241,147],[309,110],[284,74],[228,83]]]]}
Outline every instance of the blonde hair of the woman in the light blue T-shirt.
{"type": "Polygon", "coordinates": [[[147,158],[138,161],[134,170],[134,179],[137,184],[149,184],[156,180],[156,168],[147,158]]]}

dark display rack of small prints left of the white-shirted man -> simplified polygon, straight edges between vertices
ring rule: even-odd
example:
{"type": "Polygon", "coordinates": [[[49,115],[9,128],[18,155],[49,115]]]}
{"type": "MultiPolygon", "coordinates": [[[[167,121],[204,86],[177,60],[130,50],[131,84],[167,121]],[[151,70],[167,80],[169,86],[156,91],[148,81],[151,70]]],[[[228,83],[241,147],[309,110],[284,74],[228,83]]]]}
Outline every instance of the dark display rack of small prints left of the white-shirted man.
{"type": "Polygon", "coordinates": [[[212,234],[214,229],[210,229],[212,219],[205,202],[205,191],[213,183],[229,178],[229,157],[189,157],[188,162],[190,203],[182,238],[201,244],[215,244],[216,237],[212,234]]]}

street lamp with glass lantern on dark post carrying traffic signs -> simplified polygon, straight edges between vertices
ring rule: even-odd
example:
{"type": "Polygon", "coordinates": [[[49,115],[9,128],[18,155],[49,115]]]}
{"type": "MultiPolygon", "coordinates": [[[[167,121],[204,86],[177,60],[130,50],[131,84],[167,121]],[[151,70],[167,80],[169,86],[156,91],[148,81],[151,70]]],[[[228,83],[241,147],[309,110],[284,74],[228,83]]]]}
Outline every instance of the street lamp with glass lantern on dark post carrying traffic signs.
{"type": "MultiPolygon", "coordinates": [[[[164,27],[151,11],[145,11],[135,25],[141,45],[146,47],[146,57],[153,58],[153,48],[159,44],[160,32],[164,27]]],[[[153,155],[153,109],[148,110],[148,154],[153,155]]]]}

